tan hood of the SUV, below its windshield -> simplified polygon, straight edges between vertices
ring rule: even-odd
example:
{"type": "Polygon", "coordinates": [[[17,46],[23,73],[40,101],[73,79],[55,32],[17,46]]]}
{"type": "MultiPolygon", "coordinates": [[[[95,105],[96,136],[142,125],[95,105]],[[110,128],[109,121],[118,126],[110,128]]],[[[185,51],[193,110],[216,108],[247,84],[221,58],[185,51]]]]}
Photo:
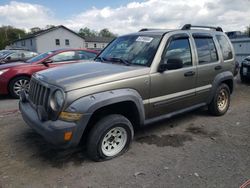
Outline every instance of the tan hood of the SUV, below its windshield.
{"type": "Polygon", "coordinates": [[[86,62],[65,65],[35,74],[49,84],[70,91],[107,82],[141,76],[149,73],[149,67],[125,66],[120,64],[86,62]]]}

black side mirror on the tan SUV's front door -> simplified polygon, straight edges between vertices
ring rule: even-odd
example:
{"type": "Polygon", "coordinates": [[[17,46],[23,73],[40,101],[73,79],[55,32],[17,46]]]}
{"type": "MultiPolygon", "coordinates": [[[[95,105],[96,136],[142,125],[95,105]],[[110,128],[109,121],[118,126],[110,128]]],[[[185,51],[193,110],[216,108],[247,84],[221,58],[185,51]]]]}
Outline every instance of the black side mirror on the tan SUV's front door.
{"type": "Polygon", "coordinates": [[[164,59],[158,68],[159,72],[164,72],[166,70],[175,70],[183,67],[181,59],[164,59]]]}

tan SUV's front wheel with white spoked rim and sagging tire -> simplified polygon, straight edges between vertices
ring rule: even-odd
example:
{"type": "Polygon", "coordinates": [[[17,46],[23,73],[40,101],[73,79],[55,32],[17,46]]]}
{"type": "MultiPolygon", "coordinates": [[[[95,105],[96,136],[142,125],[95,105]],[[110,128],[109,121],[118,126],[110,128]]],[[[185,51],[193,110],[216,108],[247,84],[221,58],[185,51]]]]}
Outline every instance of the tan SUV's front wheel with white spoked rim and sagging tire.
{"type": "Polygon", "coordinates": [[[130,121],[118,114],[99,120],[87,140],[87,154],[94,161],[105,161],[125,153],[134,137],[130,121]]]}

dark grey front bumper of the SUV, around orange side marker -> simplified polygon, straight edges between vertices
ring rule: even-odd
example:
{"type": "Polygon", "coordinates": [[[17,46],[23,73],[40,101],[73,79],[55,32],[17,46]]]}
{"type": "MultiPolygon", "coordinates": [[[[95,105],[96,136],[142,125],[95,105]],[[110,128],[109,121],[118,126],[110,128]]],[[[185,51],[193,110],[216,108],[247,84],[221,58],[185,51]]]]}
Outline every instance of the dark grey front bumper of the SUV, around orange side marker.
{"type": "Polygon", "coordinates": [[[36,110],[30,105],[29,102],[19,102],[19,109],[22,113],[24,121],[33,129],[35,129],[40,135],[44,137],[49,143],[56,145],[59,148],[69,148],[76,146],[83,134],[84,128],[87,123],[79,121],[66,122],[61,120],[56,121],[40,121],[36,110]],[[72,132],[72,138],[70,141],[64,140],[65,132],[72,132]]]}

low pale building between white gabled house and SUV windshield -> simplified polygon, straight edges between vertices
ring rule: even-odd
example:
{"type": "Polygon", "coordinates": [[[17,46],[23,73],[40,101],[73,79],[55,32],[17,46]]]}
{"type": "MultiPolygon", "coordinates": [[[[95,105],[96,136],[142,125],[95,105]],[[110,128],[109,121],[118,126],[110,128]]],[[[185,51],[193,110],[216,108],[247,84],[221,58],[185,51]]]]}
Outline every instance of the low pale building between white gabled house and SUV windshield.
{"type": "Polygon", "coordinates": [[[114,38],[110,37],[85,37],[85,48],[101,50],[105,48],[114,38]]]}

